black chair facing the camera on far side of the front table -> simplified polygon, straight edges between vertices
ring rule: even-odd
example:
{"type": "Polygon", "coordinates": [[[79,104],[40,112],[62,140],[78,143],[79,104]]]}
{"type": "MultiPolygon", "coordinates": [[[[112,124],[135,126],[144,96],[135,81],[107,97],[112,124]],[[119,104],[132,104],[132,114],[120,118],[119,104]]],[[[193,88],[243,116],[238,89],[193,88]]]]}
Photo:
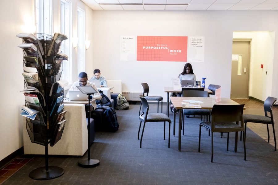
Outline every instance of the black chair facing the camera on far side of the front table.
{"type": "MultiPolygon", "coordinates": [[[[183,91],[183,97],[208,97],[208,91],[185,90],[185,91],[183,91]]],[[[208,121],[208,117],[210,120],[210,110],[208,110],[208,109],[183,109],[183,135],[184,135],[184,116],[185,115],[207,116],[207,121],[208,121]]]]}

